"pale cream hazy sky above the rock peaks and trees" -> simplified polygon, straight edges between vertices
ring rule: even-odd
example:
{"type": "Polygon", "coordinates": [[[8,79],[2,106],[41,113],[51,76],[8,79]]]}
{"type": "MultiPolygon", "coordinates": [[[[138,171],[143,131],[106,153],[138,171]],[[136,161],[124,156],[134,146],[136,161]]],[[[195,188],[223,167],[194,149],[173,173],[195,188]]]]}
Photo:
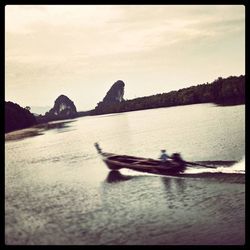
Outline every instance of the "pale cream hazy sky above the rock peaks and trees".
{"type": "Polygon", "coordinates": [[[7,5],[5,99],[92,109],[245,74],[243,5],[7,5]]]}

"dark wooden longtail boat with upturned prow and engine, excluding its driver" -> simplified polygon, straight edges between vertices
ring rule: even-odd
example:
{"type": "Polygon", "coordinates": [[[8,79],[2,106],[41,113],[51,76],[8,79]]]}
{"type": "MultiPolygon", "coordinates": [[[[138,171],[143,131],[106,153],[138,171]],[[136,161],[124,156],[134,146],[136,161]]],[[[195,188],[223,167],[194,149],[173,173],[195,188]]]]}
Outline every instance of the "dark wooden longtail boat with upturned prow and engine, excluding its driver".
{"type": "Polygon", "coordinates": [[[161,161],[150,158],[106,153],[102,151],[98,143],[95,143],[95,147],[102,156],[102,160],[111,170],[127,168],[140,172],[170,175],[182,173],[186,169],[185,161],[183,161],[177,153],[173,154],[171,157],[172,159],[161,161]]]}

